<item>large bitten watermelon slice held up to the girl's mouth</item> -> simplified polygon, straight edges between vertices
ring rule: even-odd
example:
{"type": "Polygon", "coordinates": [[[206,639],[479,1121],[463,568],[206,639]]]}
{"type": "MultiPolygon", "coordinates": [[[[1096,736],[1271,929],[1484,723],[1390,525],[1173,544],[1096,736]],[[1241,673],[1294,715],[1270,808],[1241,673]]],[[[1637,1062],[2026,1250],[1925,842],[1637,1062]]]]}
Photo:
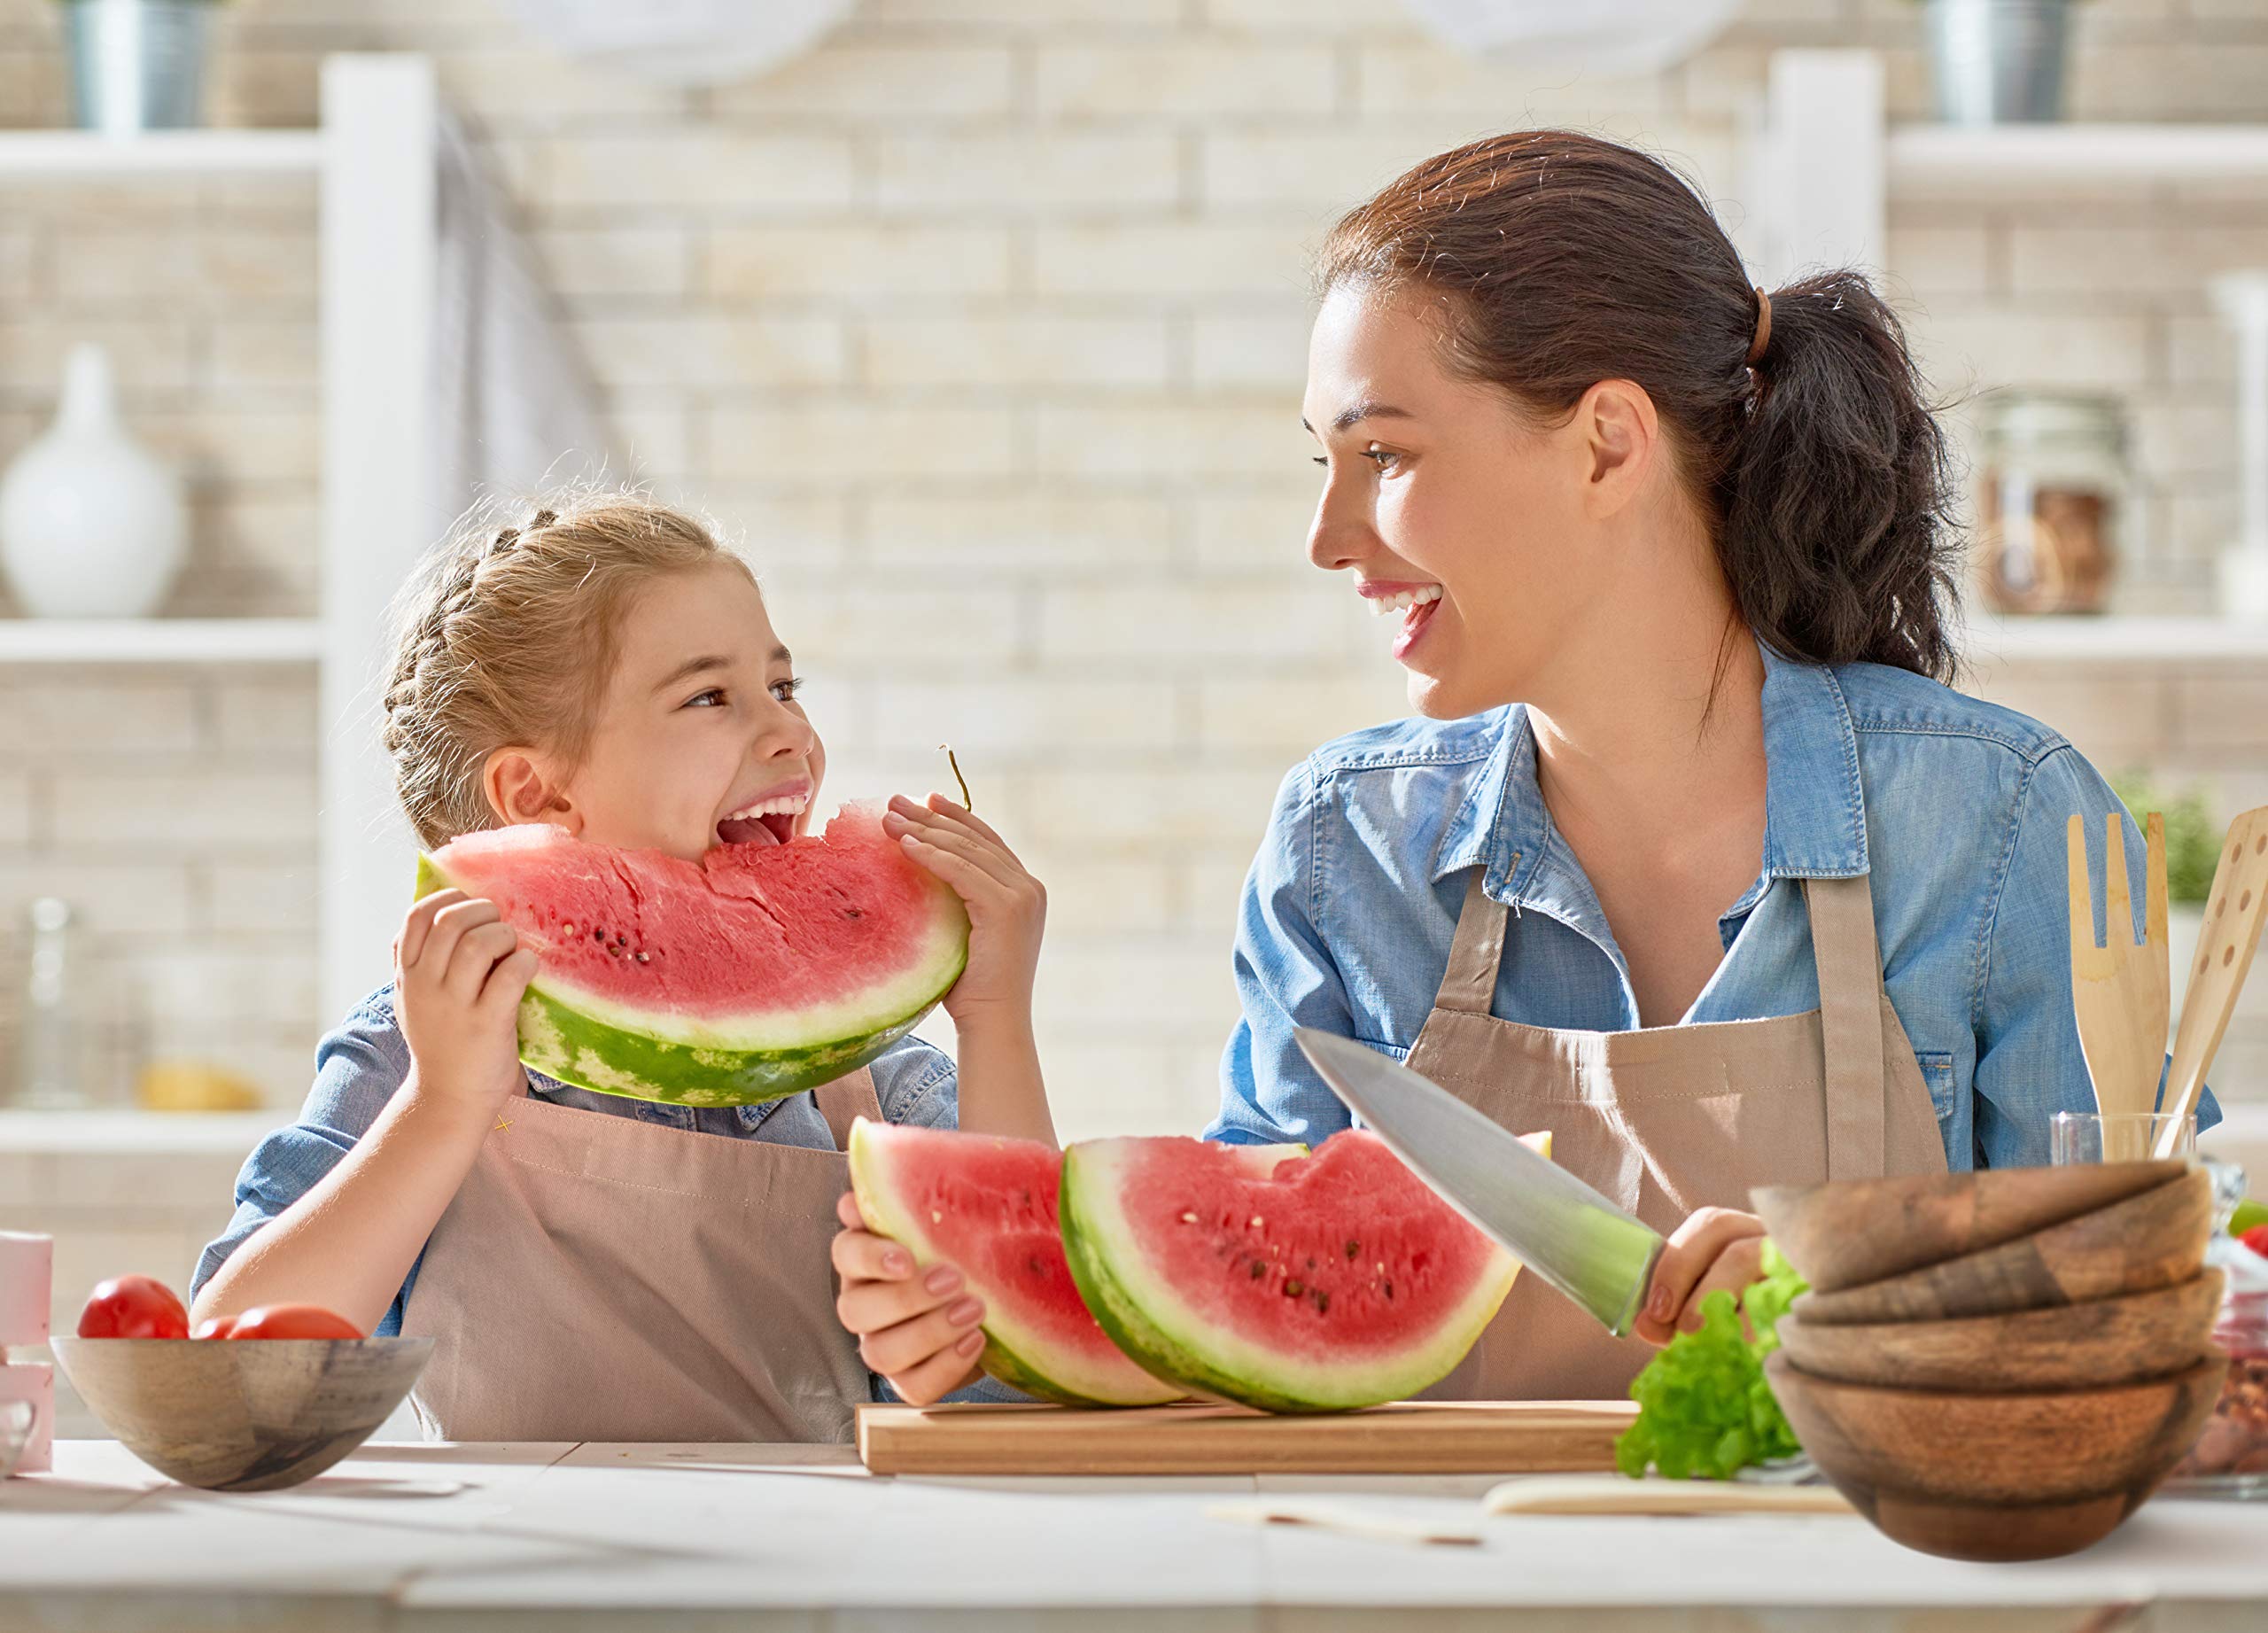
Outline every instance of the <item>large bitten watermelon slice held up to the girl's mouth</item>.
{"type": "Polygon", "coordinates": [[[755,1105],[857,1071],[959,980],[968,914],[846,805],[826,835],[699,862],[549,823],[417,860],[417,894],[497,903],[542,964],[519,1059],[567,1084],[689,1107],[755,1105]]]}

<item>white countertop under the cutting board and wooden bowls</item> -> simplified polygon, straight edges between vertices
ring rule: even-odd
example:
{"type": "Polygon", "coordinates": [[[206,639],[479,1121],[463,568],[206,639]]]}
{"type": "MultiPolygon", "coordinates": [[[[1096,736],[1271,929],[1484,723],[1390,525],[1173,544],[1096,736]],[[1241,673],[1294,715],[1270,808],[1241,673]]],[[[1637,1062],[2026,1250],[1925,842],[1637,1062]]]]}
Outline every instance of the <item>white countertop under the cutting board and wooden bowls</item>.
{"type": "Polygon", "coordinates": [[[1962,1608],[1962,1628],[2064,1626],[2041,1613],[2109,1604],[2155,1604],[2155,1631],[2268,1624],[2259,1504],[2159,1499],[2087,1554],[1964,1565],[1848,1515],[1479,1522],[1490,1483],[873,1479],[837,1447],[370,1445],[295,1490],[222,1497],[116,1442],[66,1440],[57,1474],[0,1486],[0,1626],[177,1626],[191,1599],[245,1628],[535,1626],[608,1606],[637,1626],[728,1610],[735,1628],[810,1633],[934,1626],[934,1613],[987,1633],[1347,1633],[1347,1608],[1393,1628],[1470,1626],[1474,1608],[1490,1628],[1563,1628],[1565,1608],[1597,1608],[1585,1633],[1746,1626],[1726,1606],[1769,1608],[1774,1628],[1848,1628],[1860,1606],[1962,1608]],[[1207,1513],[1254,1492],[1479,1522],[1483,1545],[1207,1513]]]}

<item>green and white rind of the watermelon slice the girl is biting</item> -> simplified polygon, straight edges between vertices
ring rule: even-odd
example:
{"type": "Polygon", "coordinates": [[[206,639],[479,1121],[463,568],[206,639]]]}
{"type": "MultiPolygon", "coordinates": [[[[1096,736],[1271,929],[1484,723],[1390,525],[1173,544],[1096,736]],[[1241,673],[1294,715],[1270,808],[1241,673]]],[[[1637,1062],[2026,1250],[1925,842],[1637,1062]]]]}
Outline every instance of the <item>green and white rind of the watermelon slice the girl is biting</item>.
{"type": "MultiPolygon", "coordinates": [[[[431,855],[417,857],[420,898],[454,885],[431,855]]],[[[796,1014],[705,1023],[674,1016],[655,1025],[538,971],[519,1000],[519,1061],[562,1084],[628,1100],[683,1107],[782,1100],[855,1073],[921,1025],[968,964],[964,923],[959,914],[941,914],[930,946],[896,980],[796,1014]]]]}

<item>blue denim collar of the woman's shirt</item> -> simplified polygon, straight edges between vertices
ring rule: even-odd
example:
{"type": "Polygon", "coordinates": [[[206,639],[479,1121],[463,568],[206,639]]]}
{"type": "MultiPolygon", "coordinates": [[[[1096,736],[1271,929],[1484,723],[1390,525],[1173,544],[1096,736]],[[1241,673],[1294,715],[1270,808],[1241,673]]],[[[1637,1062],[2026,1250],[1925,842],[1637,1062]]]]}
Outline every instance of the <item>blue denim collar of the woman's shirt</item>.
{"type": "MultiPolygon", "coordinates": [[[[1765,878],[1867,873],[1867,796],[1857,730],[1826,665],[1765,658],[1765,878]]],[[[1501,737],[1465,807],[1442,830],[1433,878],[1486,864],[1481,887],[1524,905],[1551,837],[1535,789],[1535,730],[1524,703],[1501,710],[1501,737]]]]}

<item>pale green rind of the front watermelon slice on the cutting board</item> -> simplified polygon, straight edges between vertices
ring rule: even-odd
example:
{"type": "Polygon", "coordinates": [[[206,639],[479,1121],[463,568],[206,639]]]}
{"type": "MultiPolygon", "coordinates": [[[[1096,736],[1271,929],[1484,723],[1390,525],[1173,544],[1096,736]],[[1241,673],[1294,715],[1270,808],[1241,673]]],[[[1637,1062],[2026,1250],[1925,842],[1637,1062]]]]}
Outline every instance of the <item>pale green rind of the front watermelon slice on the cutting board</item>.
{"type": "Polygon", "coordinates": [[[1064,1257],[1102,1331],[1145,1372],[1193,1393],[1272,1413],[1359,1411],[1406,1399],[1456,1370],[1520,1275],[1520,1261],[1499,1254],[1497,1270],[1474,1279],[1431,1340],[1388,1359],[1368,1365],[1347,1359],[1302,1363],[1198,1315],[1173,1286],[1143,1268],[1134,1250],[1134,1225],[1120,1207],[1125,1168],[1136,1145],[1139,1141],[1089,1141],[1064,1152],[1057,1200],[1064,1257]]]}

